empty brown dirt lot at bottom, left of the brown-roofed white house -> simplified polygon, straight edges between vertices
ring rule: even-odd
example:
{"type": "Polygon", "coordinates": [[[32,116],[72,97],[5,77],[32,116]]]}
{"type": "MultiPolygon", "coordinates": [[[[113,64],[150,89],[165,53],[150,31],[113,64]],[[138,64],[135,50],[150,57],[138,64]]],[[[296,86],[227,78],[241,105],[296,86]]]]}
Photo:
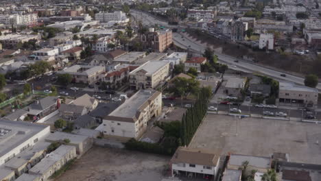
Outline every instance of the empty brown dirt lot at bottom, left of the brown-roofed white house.
{"type": "Polygon", "coordinates": [[[56,181],[160,181],[169,160],[166,156],[93,147],[56,181]]]}

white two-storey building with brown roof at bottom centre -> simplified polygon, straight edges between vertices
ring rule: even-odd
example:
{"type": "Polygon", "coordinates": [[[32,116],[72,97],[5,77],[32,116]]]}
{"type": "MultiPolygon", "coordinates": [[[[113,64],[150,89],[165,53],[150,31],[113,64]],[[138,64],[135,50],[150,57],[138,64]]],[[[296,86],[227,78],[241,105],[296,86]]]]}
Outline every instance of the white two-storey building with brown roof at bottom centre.
{"type": "Polygon", "coordinates": [[[221,152],[206,149],[178,147],[171,158],[171,175],[190,175],[195,178],[215,178],[219,168],[221,152]]]}

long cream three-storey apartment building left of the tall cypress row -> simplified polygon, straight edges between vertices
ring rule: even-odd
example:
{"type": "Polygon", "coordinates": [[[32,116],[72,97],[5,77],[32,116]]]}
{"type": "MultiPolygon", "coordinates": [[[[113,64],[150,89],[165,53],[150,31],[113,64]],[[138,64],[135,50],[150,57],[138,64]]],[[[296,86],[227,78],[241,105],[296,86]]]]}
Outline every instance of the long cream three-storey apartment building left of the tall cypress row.
{"type": "Polygon", "coordinates": [[[148,121],[158,117],[162,110],[162,93],[154,89],[139,90],[129,99],[104,117],[95,130],[105,135],[127,138],[141,137],[148,121]]]}

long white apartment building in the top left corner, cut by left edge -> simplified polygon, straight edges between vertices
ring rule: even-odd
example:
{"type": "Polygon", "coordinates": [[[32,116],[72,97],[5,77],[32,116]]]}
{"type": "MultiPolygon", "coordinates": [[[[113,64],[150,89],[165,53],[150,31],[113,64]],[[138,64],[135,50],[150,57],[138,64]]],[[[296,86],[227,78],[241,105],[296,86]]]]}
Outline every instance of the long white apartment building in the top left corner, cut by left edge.
{"type": "Polygon", "coordinates": [[[0,23],[5,25],[31,25],[37,23],[38,14],[10,14],[0,16],[0,23]]]}

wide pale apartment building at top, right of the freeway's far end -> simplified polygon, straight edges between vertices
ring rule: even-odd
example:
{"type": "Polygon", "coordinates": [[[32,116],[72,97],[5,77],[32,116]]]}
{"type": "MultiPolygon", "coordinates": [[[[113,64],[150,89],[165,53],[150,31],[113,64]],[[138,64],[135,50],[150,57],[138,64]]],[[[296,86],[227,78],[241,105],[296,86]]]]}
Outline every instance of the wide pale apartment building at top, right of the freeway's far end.
{"type": "Polygon", "coordinates": [[[196,10],[196,9],[189,9],[187,10],[187,18],[193,19],[195,21],[211,21],[216,16],[217,10],[196,10]]]}

